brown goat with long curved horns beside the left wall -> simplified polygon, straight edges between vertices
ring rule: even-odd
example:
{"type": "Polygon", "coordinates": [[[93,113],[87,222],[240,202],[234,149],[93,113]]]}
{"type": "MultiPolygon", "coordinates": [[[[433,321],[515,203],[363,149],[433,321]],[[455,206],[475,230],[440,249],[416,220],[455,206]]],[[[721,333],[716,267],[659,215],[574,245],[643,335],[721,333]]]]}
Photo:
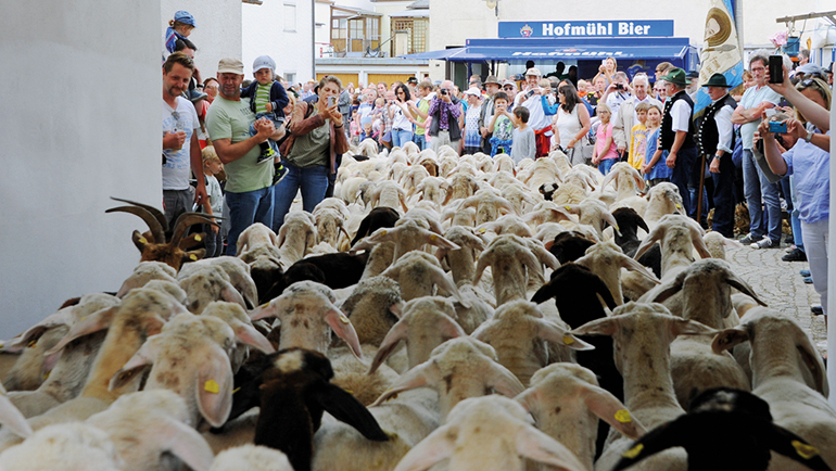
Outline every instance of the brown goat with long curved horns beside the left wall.
{"type": "Polygon", "coordinates": [[[139,250],[140,262],[163,262],[175,270],[187,262],[197,262],[206,254],[205,249],[190,251],[201,241],[202,234],[193,234],[183,238],[186,230],[198,224],[211,224],[217,226],[212,216],[200,213],[183,213],[174,224],[174,229],[168,230],[168,222],[165,214],[160,209],[141,203],[128,200],[112,198],[112,200],[128,203],[129,206],[112,207],[105,213],[130,213],[142,218],[148,225],[149,231],[140,233],[134,231],[134,245],[139,250]]]}

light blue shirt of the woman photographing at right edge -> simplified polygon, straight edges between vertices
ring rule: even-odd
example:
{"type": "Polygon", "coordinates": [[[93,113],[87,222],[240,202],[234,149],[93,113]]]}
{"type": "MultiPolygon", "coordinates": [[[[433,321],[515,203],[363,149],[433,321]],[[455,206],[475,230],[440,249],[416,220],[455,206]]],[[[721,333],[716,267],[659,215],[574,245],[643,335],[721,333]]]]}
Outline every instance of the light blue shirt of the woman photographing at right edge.
{"type": "Polygon", "coordinates": [[[795,176],[798,217],[807,224],[827,219],[831,215],[831,153],[799,139],[783,156],[787,175],[795,176]]]}

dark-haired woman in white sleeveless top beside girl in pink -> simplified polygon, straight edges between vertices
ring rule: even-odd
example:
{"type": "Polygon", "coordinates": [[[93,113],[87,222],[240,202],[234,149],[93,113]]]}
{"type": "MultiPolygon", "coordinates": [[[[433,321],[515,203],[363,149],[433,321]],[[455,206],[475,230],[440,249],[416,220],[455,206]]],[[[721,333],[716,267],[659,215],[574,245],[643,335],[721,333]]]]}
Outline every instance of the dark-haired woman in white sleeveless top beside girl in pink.
{"type": "Polygon", "coordinates": [[[546,97],[543,100],[543,111],[546,115],[557,115],[553,128],[555,130],[555,143],[553,149],[563,149],[571,158],[571,164],[588,164],[583,156],[583,137],[590,131],[590,112],[581,101],[578,90],[569,82],[563,81],[557,89],[559,103],[548,104],[546,97]]]}

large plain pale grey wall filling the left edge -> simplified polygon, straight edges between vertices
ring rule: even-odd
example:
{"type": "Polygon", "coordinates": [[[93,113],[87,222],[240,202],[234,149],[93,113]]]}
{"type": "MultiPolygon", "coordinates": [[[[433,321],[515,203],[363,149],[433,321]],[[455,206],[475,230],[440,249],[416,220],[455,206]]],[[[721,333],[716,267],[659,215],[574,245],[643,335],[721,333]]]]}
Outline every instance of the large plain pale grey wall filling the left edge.
{"type": "Polygon", "coordinates": [[[0,0],[0,338],[66,298],[116,291],[162,206],[160,2],[0,0]],[[37,18],[37,34],[33,22],[37,18]]]}

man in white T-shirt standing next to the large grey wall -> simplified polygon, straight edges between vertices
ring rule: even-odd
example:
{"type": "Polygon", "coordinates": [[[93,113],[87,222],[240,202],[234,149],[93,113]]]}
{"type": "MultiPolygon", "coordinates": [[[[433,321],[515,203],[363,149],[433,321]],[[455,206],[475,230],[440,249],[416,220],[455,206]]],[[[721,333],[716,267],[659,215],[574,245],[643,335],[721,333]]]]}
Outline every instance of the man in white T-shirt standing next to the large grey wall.
{"type": "Polygon", "coordinates": [[[194,105],[182,98],[193,72],[194,62],[182,52],[173,53],[163,64],[163,206],[169,226],[206,199],[200,122],[194,105]],[[200,177],[197,190],[189,184],[190,170],[200,177]]]}

